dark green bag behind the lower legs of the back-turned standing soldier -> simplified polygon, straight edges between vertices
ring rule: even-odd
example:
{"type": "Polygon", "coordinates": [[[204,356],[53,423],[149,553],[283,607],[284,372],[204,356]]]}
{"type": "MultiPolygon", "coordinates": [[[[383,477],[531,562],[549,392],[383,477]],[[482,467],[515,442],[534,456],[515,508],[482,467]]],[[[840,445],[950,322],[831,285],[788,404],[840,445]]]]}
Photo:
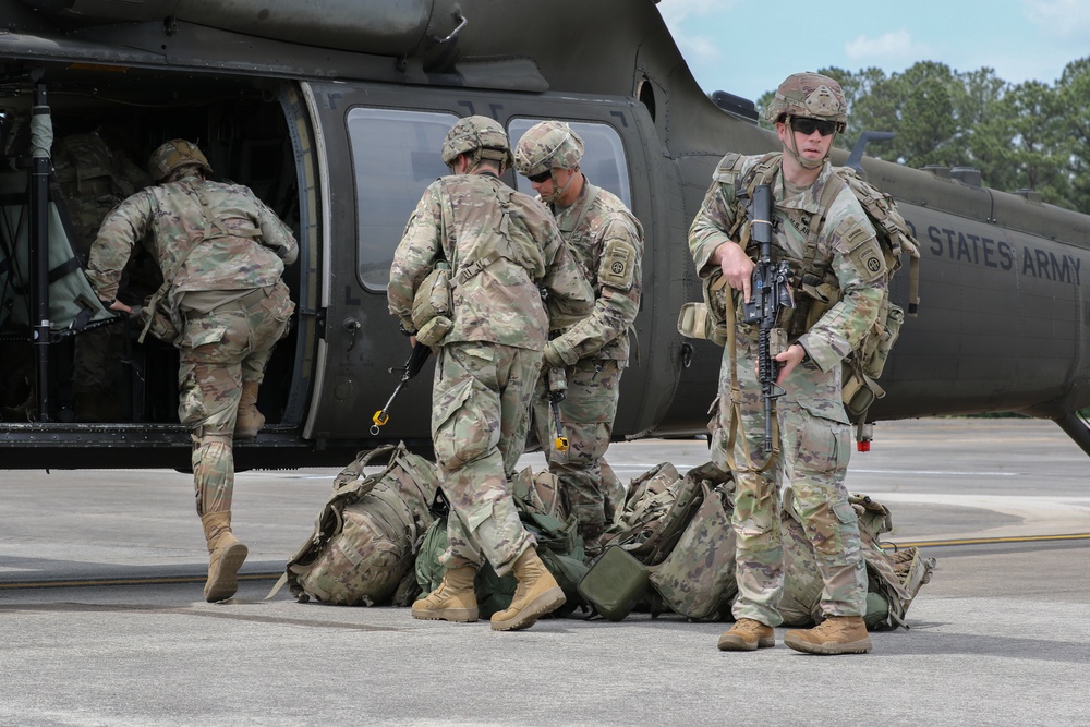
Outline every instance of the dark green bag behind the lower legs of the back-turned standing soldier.
{"type": "MultiPolygon", "coordinates": [[[[583,538],[579,535],[579,522],[565,512],[559,483],[548,471],[536,475],[525,468],[511,480],[511,496],[519,511],[522,525],[537,542],[537,555],[548,569],[567,598],[557,616],[570,614],[584,604],[577,585],[586,573],[583,562],[583,538]]],[[[421,593],[431,593],[439,587],[446,572],[439,557],[447,549],[447,518],[436,518],[424,534],[416,556],[415,578],[421,593]]],[[[510,607],[518,587],[513,573],[497,575],[487,562],[477,569],[473,584],[481,618],[510,607]]]]}

